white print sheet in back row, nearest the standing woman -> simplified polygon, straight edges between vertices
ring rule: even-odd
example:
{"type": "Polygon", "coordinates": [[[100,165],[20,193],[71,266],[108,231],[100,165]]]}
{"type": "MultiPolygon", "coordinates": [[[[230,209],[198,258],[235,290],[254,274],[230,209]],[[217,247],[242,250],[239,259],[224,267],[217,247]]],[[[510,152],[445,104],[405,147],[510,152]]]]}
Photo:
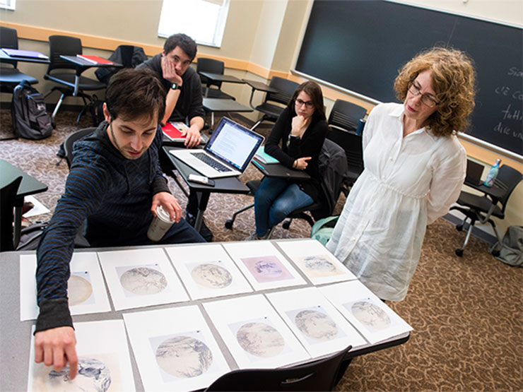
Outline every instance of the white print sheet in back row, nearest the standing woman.
{"type": "Polygon", "coordinates": [[[316,239],[280,241],[277,244],[314,285],[356,279],[355,275],[316,239]]]}

